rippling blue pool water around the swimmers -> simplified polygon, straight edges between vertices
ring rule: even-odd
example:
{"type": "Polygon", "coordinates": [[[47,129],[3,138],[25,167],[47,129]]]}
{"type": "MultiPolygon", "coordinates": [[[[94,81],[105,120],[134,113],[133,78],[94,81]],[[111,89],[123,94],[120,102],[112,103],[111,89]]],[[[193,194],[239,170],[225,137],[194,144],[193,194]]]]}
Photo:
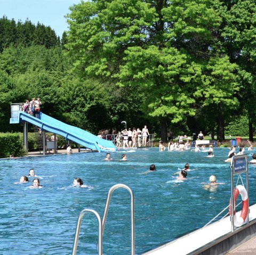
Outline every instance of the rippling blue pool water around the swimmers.
{"type": "MultiPolygon", "coordinates": [[[[0,161],[0,254],[71,254],[80,211],[90,208],[103,216],[109,188],[129,186],[135,199],[135,253],[151,250],[180,235],[203,227],[229,203],[230,168],[224,162],[229,149],[214,149],[214,158],[203,152],[159,152],[157,148],[111,153],[51,155],[0,161]],[[129,161],[120,161],[126,153],[129,161]],[[188,179],[172,176],[190,164],[188,179]],[[156,172],[147,172],[151,163],[156,172]],[[30,168],[41,178],[41,189],[13,184],[30,168]],[[219,185],[205,190],[204,182],[216,175],[219,185]],[[80,177],[89,188],[75,188],[80,177]]],[[[249,160],[251,153],[247,152],[249,160]]],[[[256,168],[249,166],[250,204],[255,203],[256,168]]],[[[245,176],[243,176],[245,183],[245,176]]],[[[130,254],[130,194],[113,193],[103,235],[104,254],[130,254]]],[[[82,221],[77,254],[98,254],[98,222],[93,215],[82,221]]]]}

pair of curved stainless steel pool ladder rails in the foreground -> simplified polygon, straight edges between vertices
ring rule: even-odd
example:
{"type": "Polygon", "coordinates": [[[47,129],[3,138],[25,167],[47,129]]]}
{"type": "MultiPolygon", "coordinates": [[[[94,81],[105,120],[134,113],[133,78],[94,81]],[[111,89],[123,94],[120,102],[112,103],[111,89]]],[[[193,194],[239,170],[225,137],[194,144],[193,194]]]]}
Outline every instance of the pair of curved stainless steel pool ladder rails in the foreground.
{"type": "Polygon", "coordinates": [[[99,213],[92,209],[84,209],[79,213],[79,216],[77,219],[76,233],[75,233],[75,240],[74,240],[74,244],[73,244],[72,255],[76,254],[79,232],[80,232],[80,228],[81,228],[82,219],[83,219],[85,213],[93,213],[98,219],[98,255],[102,255],[102,237],[103,237],[103,232],[104,232],[105,225],[106,225],[106,219],[108,216],[109,203],[110,203],[112,193],[117,188],[125,188],[127,191],[129,191],[129,193],[131,195],[131,255],[135,255],[134,195],[133,195],[131,188],[124,184],[116,184],[109,189],[107,202],[106,202],[102,220],[99,216],[99,213]]]}

